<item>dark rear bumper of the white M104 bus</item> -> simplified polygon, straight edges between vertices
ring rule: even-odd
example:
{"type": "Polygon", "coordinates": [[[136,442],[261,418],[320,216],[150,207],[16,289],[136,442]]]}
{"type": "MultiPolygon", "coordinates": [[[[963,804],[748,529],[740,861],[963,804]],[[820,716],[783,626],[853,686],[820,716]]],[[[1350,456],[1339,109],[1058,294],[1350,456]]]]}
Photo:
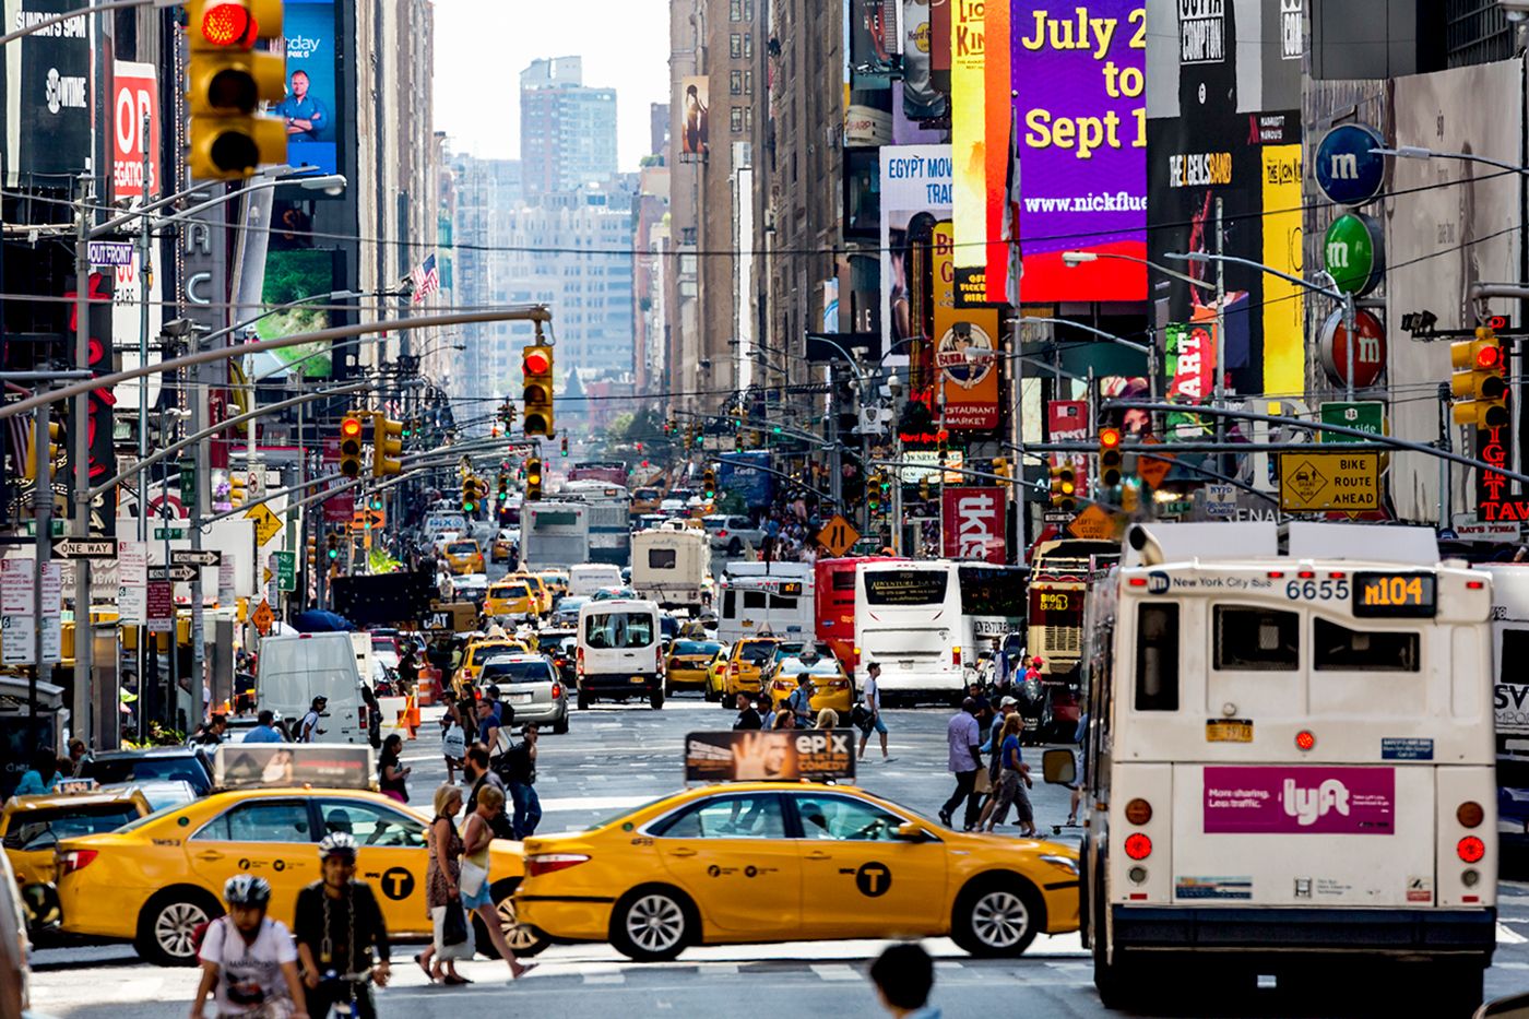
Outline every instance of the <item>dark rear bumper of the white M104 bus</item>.
{"type": "Polygon", "coordinates": [[[1115,906],[1113,942],[1136,952],[1364,952],[1477,956],[1497,947],[1497,909],[1196,909],[1115,906]]]}

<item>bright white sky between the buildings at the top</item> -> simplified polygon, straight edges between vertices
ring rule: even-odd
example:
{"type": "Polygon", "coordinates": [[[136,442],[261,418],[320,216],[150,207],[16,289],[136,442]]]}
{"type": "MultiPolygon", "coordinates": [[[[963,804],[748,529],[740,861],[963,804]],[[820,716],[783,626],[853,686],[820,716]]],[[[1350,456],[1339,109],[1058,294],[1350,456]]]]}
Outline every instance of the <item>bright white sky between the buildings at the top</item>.
{"type": "Polygon", "coordinates": [[[485,158],[520,155],[520,72],[583,57],[616,89],[621,170],[648,153],[648,106],[668,95],[668,0],[436,0],[436,130],[485,158]]]}

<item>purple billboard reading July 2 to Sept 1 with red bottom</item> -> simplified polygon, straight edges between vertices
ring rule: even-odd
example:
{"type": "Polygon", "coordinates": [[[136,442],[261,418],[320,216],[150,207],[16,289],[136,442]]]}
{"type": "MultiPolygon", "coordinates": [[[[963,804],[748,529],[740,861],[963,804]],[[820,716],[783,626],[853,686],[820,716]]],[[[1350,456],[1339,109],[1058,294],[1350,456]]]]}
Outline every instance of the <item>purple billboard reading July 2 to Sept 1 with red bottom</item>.
{"type": "Polygon", "coordinates": [[[1139,301],[1147,257],[1147,8],[1014,0],[1018,242],[1026,301],[1139,301]]]}

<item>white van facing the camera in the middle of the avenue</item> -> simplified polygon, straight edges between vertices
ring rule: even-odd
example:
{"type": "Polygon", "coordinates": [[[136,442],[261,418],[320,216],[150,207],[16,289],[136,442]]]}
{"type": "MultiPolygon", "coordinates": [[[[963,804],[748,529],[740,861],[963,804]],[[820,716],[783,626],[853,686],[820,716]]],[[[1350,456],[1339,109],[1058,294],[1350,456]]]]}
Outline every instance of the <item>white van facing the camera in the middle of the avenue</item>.
{"type": "Polygon", "coordinates": [[[578,705],[647,698],[664,707],[664,627],[654,601],[607,598],[578,612],[578,705]]]}

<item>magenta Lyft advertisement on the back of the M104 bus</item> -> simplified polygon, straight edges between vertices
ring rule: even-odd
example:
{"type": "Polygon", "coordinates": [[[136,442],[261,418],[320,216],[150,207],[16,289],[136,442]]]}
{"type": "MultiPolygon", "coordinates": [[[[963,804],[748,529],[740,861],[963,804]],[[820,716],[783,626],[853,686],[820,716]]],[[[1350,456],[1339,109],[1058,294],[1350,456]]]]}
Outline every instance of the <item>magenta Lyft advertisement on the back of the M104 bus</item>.
{"type": "Polygon", "coordinates": [[[1205,834],[1390,835],[1391,768],[1206,768],[1205,834]]]}

